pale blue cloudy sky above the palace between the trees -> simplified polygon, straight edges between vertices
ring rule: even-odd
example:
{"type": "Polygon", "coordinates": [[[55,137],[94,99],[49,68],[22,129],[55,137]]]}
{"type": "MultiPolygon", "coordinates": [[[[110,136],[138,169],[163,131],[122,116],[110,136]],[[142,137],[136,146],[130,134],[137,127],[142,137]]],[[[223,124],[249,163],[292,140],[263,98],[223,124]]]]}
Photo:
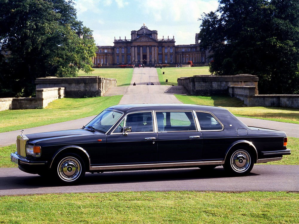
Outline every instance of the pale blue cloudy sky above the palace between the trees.
{"type": "Polygon", "coordinates": [[[131,39],[131,30],[145,23],[158,31],[158,38],[172,38],[176,45],[195,43],[202,13],[216,10],[216,0],[74,0],[78,19],[94,30],[97,45],[113,45],[116,39],[131,39]]]}

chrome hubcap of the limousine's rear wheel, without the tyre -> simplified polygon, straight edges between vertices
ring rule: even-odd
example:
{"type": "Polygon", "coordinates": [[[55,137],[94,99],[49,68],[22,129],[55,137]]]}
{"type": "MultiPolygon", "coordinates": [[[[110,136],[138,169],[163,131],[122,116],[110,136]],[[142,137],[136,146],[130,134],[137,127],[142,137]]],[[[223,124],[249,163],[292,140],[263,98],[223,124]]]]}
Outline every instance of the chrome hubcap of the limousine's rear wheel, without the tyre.
{"type": "Polygon", "coordinates": [[[237,172],[246,171],[251,163],[251,158],[248,152],[239,150],[231,156],[231,166],[237,172]]]}

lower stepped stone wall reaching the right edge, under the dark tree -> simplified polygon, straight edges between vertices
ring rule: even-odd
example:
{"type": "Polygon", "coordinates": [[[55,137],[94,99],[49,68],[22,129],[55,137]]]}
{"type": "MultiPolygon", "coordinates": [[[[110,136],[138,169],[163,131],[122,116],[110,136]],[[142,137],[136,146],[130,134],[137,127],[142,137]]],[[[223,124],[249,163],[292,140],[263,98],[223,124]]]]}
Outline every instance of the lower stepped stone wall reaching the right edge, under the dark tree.
{"type": "Polygon", "coordinates": [[[232,97],[244,101],[247,106],[299,108],[299,95],[255,95],[254,86],[229,86],[232,97]]]}

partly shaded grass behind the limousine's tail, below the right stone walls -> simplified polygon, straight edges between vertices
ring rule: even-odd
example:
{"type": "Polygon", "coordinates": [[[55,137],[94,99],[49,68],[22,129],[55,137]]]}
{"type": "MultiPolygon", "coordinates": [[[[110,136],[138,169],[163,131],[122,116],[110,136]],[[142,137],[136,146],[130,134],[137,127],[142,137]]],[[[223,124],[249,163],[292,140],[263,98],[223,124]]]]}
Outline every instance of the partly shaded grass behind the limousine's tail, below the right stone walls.
{"type": "Polygon", "coordinates": [[[299,124],[299,109],[281,107],[246,107],[243,101],[230,96],[175,95],[185,104],[224,107],[236,116],[299,124]]]}

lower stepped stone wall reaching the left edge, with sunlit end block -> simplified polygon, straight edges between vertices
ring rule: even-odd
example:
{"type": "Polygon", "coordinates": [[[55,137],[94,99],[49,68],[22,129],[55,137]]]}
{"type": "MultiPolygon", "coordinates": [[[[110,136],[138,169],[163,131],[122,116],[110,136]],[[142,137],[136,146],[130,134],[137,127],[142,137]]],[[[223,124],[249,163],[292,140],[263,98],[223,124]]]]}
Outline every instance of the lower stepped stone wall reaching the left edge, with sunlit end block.
{"type": "Polygon", "coordinates": [[[1,98],[0,111],[44,108],[55,99],[64,97],[64,88],[37,89],[36,97],[1,98]]]}

